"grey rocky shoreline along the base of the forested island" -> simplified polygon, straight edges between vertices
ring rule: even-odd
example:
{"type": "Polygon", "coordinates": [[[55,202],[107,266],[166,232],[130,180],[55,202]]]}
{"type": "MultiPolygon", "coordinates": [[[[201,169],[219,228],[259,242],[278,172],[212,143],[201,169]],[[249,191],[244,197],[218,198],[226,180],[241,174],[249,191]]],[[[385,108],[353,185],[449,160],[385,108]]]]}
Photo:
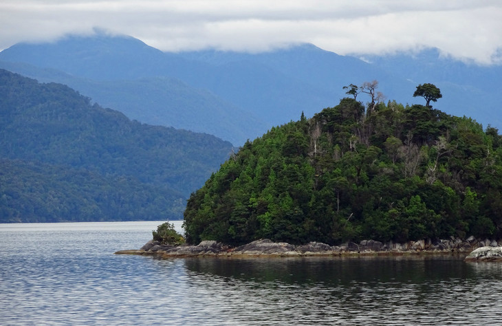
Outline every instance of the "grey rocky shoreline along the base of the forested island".
{"type": "Polygon", "coordinates": [[[502,261],[502,241],[476,239],[469,237],[441,239],[436,241],[419,240],[407,243],[363,240],[360,243],[347,242],[340,246],[326,243],[309,242],[294,246],[290,243],[273,242],[260,239],[232,248],[217,241],[202,241],[197,246],[171,246],[159,241],[149,241],[140,250],[120,250],[115,254],[151,255],[158,258],[171,257],[312,257],[312,256],[347,256],[347,255],[402,255],[402,254],[452,254],[474,253],[467,261],[502,261]],[[487,259],[487,257],[489,259],[487,259]]]}

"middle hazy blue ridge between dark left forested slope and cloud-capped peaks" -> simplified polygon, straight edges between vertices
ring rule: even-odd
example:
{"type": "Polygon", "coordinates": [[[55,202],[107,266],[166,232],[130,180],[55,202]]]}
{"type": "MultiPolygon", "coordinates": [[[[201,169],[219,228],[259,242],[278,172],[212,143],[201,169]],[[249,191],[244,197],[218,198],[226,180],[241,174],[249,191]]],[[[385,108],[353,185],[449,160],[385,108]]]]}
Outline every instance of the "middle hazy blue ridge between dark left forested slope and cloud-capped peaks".
{"type": "Polygon", "coordinates": [[[0,61],[0,67],[41,83],[68,85],[102,106],[119,109],[128,118],[147,124],[209,133],[234,144],[266,130],[265,122],[252,113],[175,78],[95,80],[28,63],[0,61]]]}

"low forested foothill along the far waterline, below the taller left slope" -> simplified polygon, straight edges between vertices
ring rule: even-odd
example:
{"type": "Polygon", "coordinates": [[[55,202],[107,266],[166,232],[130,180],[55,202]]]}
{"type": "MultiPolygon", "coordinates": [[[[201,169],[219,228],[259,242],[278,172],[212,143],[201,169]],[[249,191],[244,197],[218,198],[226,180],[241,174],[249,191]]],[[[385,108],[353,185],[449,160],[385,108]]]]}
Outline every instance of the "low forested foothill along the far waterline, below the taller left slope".
{"type": "Polygon", "coordinates": [[[167,186],[86,169],[0,159],[0,221],[175,219],[185,200],[167,186]]]}

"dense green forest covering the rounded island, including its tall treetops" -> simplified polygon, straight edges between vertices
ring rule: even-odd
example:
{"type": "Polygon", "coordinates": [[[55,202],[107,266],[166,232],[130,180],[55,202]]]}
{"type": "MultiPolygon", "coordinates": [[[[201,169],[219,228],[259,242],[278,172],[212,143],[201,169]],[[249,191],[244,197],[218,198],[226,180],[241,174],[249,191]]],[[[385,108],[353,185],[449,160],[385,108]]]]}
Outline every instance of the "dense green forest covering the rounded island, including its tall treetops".
{"type": "MultiPolygon", "coordinates": [[[[384,103],[378,84],[364,86],[246,142],[190,196],[186,240],[501,238],[498,130],[428,105],[384,103]],[[356,100],[361,91],[367,106],[356,100]]],[[[431,86],[414,96],[435,102],[431,86]]]]}

